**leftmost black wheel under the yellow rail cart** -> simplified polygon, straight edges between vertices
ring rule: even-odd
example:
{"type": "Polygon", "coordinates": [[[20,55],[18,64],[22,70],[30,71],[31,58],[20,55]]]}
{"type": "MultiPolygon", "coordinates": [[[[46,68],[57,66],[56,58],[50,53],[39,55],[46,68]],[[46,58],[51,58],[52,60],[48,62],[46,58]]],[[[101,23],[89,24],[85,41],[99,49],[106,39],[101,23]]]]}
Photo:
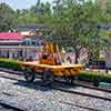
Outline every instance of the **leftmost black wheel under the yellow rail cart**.
{"type": "Polygon", "coordinates": [[[27,82],[33,82],[36,79],[36,73],[31,70],[24,72],[24,79],[27,82]]]}

